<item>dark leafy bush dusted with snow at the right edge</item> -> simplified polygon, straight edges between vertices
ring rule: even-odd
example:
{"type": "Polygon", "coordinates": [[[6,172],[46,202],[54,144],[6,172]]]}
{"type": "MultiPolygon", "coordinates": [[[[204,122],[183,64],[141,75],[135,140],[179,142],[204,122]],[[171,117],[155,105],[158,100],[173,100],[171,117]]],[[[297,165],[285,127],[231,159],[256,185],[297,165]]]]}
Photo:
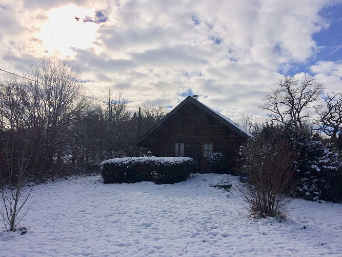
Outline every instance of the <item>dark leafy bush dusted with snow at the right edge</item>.
{"type": "Polygon", "coordinates": [[[324,143],[310,128],[300,130],[294,124],[266,125],[261,132],[267,137],[285,138],[296,152],[297,186],[293,196],[312,201],[342,201],[342,154],[333,144],[324,143]]]}

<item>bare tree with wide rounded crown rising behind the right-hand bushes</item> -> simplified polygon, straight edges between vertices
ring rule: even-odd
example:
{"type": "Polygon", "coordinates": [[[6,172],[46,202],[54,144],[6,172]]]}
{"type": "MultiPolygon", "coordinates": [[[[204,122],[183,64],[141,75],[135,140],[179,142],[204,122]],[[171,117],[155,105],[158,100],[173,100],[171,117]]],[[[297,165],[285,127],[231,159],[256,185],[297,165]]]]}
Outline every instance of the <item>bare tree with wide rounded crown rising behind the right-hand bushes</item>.
{"type": "Polygon", "coordinates": [[[311,108],[319,108],[319,96],[323,90],[323,84],[310,76],[305,76],[301,81],[284,76],[260,107],[268,111],[271,121],[282,124],[294,122],[301,128],[303,122],[309,121],[311,108]]]}

